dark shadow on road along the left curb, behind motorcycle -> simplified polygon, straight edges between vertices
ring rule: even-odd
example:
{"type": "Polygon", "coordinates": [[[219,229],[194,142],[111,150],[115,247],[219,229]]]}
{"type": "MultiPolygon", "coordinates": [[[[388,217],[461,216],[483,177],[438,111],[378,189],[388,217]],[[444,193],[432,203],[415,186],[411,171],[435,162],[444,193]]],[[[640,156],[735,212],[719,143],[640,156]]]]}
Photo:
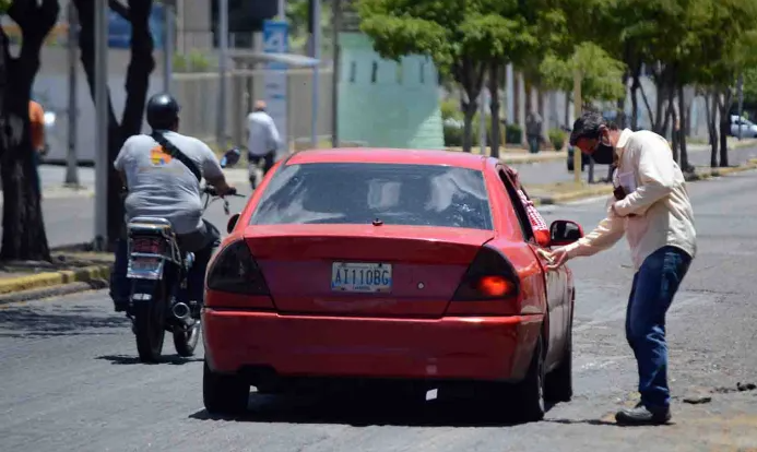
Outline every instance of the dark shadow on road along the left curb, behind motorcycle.
{"type": "Polygon", "coordinates": [[[128,324],[126,317],[103,316],[85,307],[71,306],[60,312],[28,307],[0,309],[0,335],[7,337],[120,334],[128,324]]]}

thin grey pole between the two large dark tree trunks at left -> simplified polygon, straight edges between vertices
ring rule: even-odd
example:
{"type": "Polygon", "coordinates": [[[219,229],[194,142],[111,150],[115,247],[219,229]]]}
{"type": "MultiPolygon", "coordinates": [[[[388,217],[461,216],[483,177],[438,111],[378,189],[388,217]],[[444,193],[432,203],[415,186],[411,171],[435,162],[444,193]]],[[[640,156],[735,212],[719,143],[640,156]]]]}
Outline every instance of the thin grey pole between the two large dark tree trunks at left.
{"type": "Polygon", "coordinates": [[[76,49],[79,48],[79,16],[76,7],[70,2],[67,10],[69,21],[69,130],[68,152],[66,154],[66,185],[79,187],[79,162],[76,158],[76,127],[79,124],[78,80],[76,80],[76,49]]]}

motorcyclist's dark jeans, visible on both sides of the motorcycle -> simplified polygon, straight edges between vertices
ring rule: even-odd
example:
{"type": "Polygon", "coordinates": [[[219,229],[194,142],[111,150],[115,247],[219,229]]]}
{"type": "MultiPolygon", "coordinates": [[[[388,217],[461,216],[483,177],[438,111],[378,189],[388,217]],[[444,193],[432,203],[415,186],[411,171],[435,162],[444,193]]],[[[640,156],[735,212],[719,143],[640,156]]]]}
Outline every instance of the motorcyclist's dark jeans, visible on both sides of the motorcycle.
{"type": "MultiPolygon", "coordinates": [[[[178,236],[181,250],[194,253],[194,263],[187,274],[187,289],[180,289],[177,294],[179,301],[198,301],[202,305],[204,299],[205,272],[213,252],[221,243],[221,233],[209,222],[203,219],[203,223],[204,227],[200,230],[178,236]]],[[[126,276],[128,267],[129,243],[121,238],[116,247],[116,260],[110,276],[110,298],[116,305],[116,310],[122,310],[131,296],[131,285],[126,276]]]]}

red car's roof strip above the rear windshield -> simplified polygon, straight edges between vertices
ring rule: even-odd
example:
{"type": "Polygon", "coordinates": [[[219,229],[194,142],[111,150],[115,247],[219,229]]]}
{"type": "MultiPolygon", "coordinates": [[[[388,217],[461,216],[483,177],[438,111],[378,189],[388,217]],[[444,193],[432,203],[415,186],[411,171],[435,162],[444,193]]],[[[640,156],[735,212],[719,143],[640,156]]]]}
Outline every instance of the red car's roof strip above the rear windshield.
{"type": "Polygon", "coordinates": [[[387,147],[336,147],[300,151],[286,165],[318,163],[368,163],[401,165],[447,165],[482,170],[486,157],[457,151],[402,150],[387,147]]]}

